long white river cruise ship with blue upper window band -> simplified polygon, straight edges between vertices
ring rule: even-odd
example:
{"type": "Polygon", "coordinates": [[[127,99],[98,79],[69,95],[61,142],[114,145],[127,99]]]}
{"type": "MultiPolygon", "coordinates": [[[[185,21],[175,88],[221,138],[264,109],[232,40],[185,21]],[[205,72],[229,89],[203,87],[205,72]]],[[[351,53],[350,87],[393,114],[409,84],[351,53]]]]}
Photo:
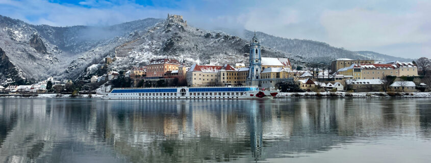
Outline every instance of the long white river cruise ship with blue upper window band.
{"type": "Polygon", "coordinates": [[[252,86],[114,88],[102,99],[272,99],[278,92],[252,86]]]}

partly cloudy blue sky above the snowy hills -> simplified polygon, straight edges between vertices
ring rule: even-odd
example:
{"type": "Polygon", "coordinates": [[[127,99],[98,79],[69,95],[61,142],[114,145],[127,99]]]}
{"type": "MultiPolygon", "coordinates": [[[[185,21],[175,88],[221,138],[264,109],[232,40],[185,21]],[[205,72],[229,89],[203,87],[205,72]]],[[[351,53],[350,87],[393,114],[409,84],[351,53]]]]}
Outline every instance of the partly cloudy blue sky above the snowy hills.
{"type": "Polygon", "coordinates": [[[265,32],[352,51],[431,57],[431,1],[0,0],[0,15],[53,26],[183,15],[189,25],[265,32]]]}

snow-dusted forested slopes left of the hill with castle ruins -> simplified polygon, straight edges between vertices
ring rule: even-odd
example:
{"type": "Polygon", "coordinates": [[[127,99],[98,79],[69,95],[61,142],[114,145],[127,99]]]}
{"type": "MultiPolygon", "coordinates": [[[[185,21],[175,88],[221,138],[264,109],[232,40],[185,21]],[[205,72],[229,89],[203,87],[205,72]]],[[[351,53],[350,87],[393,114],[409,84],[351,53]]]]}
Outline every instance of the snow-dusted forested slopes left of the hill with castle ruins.
{"type": "MultiPolygon", "coordinates": [[[[0,16],[0,48],[20,77],[31,81],[49,76],[73,79],[92,62],[136,39],[161,19],[148,18],[106,27],[31,25],[0,16]]],[[[16,74],[16,73],[15,73],[16,74]]],[[[6,80],[0,76],[0,82],[6,80]]]]}

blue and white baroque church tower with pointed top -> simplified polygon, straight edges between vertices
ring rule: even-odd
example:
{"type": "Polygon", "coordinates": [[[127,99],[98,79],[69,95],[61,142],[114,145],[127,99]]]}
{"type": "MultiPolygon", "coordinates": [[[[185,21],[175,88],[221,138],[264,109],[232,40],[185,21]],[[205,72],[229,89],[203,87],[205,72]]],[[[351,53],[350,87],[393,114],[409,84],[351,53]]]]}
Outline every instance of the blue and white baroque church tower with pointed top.
{"type": "Polygon", "coordinates": [[[262,71],[262,64],[261,64],[261,44],[258,38],[256,37],[256,31],[255,36],[250,41],[250,58],[249,66],[248,66],[248,79],[249,80],[255,80],[260,79],[260,72],[262,71]]]}

